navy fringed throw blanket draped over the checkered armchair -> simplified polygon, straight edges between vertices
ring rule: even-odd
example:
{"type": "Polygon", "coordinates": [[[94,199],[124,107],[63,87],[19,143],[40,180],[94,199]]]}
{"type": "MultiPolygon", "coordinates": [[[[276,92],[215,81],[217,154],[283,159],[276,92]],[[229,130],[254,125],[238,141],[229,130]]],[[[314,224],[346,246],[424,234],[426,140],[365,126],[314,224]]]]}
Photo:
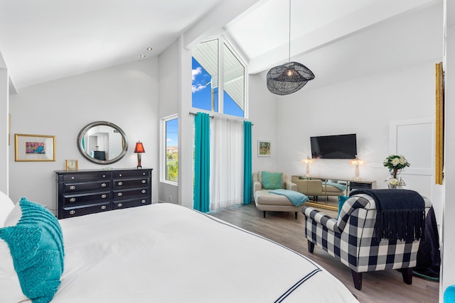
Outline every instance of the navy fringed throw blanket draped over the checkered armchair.
{"type": "Polygon", "coordinates": [[[409,189],[356,189],[354,194],[368,194],[376,202],[375,238],[412,242],[424,238],[424,198],[409,189]]]}

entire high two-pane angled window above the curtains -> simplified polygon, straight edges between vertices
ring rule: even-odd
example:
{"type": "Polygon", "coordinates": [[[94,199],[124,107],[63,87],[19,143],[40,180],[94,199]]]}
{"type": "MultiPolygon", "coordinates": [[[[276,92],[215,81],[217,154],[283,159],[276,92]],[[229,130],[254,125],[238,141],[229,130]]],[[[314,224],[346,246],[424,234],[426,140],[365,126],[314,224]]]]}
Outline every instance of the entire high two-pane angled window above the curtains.
{"type": "Polygon", "coordinates": [[[245,117],[245,63],[223,36],[193,49],[192,70],[194,108],[245,117]]]}

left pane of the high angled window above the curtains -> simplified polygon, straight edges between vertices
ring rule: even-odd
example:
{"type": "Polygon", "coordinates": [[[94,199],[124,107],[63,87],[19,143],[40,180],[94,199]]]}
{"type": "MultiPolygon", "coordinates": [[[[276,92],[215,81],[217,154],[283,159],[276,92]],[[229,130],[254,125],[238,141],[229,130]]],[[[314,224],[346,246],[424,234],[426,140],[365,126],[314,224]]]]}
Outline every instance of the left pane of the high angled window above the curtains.
{"type": "Polygon", "coordinates": [[[218,112],[218,39],[193,49],[193,107],[218,112]]]}

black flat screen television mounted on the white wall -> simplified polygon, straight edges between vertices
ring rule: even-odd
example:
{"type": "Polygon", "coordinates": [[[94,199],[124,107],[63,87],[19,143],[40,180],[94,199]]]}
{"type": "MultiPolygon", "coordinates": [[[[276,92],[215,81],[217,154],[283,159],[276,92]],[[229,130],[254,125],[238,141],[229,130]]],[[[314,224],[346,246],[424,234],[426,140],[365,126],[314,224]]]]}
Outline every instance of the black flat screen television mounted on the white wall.
{"type": "Polygon", "coordinates": [[[355,159],[357,138],[355,133],[336,136],[310,137],[311,158],[355,159]]]}

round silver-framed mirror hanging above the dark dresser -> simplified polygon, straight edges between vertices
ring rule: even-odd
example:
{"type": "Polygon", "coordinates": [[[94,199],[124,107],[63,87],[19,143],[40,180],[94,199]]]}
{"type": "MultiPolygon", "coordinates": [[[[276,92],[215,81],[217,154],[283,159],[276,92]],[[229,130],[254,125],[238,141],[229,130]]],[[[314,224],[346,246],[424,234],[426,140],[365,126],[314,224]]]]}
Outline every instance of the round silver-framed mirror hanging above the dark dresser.
{"type": "Polygon", "coordinates": [[[128,150],[127,135],[114,123],[97,121],[82,128],[77,148],[88,160],[109,164],[122,159],[128,150]]]}

